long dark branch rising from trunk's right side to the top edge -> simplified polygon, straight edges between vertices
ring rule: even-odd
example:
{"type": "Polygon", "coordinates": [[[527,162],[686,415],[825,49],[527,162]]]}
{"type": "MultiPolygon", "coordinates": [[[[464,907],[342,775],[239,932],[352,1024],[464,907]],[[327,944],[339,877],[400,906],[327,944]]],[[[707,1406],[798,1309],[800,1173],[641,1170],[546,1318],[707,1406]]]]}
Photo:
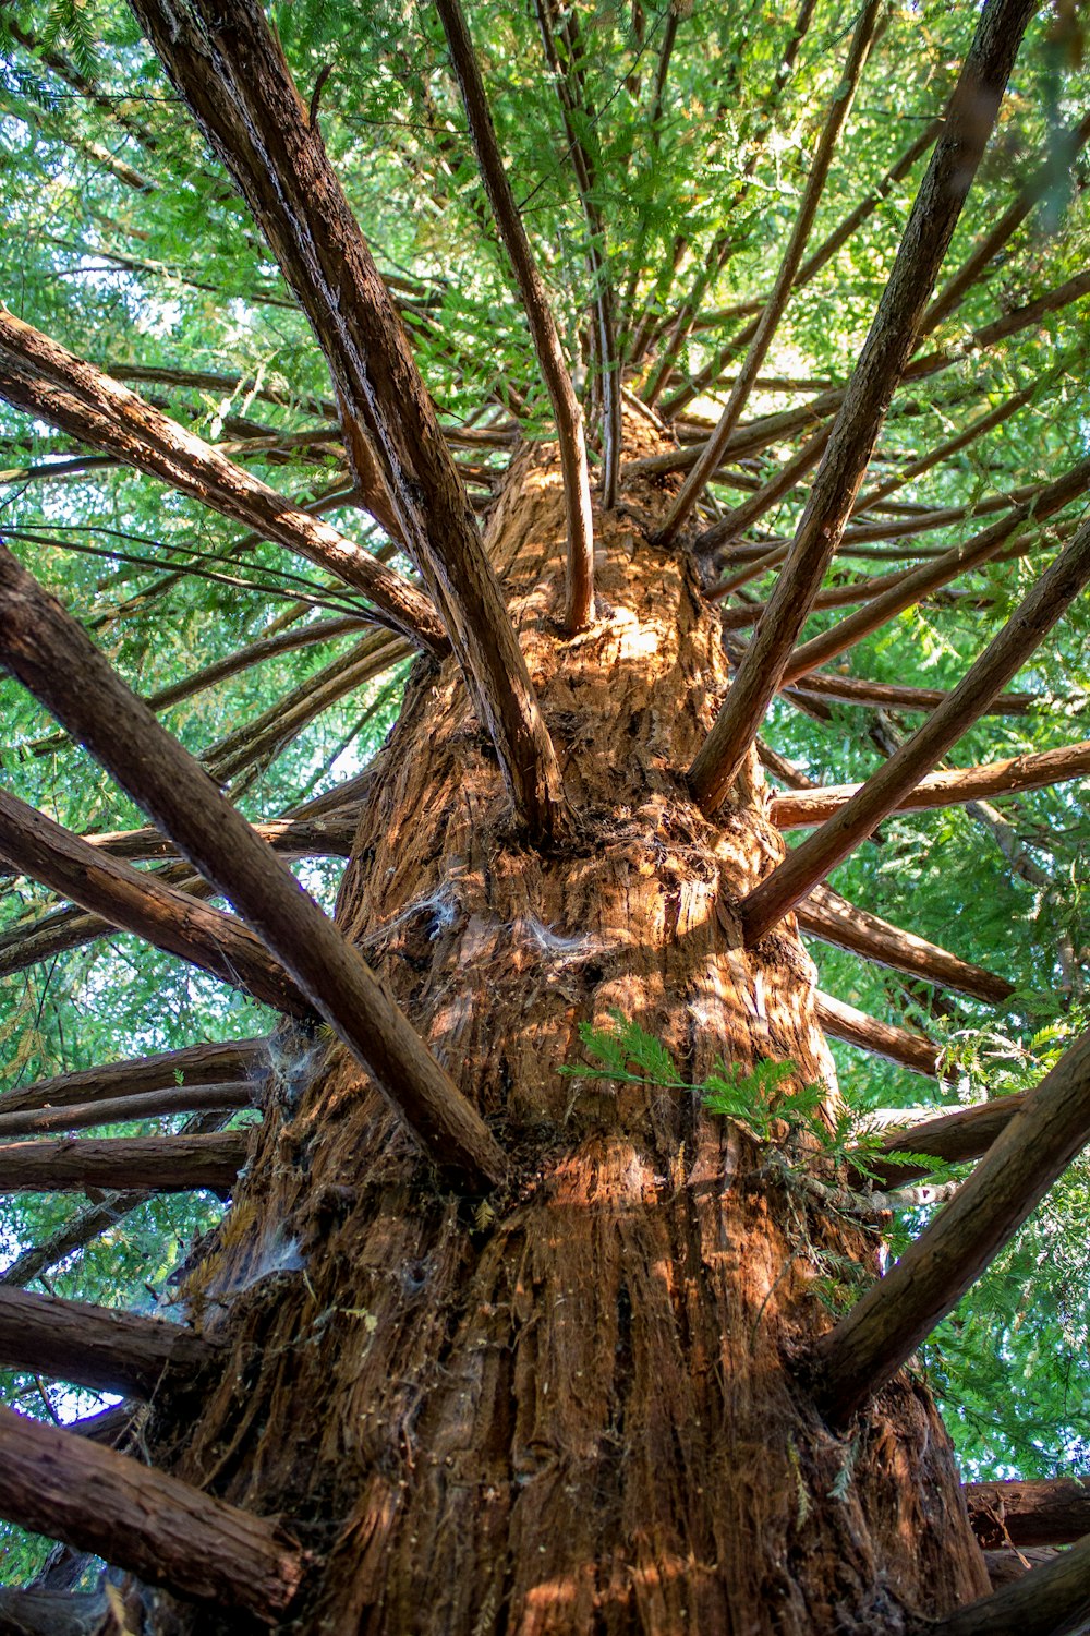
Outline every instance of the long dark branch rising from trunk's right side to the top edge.
{"type": "Polygon", "coordinates": [[[981,16],[949,105],[946,129],[912,206],[768,617],[739,667],[716,726],[690,767],[690,780],[704,811],[722,805],[734,784],[840,543],[1033,10],[1033,0],[1000,0],[981,16]]]}

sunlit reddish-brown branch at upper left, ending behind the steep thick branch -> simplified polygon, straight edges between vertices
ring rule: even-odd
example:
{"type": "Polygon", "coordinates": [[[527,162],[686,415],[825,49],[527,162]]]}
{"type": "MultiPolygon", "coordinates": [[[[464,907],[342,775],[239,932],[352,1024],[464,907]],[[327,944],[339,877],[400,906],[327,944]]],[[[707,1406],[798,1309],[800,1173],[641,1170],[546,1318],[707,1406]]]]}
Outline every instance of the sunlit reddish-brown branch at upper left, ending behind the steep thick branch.
{"type": "Polygon", "coordinates": [[[431,604],[407,579],[328,524],[299,510],[275,489],[232,465],[209,443],[152,409],[93,363],[75,358],[0,308],[0,394],[18,409],[59,425],[127,466],[162,478],[299,551],[371,599],[376,617],[433,653],[446,649],[446,631],[431,604]]]}

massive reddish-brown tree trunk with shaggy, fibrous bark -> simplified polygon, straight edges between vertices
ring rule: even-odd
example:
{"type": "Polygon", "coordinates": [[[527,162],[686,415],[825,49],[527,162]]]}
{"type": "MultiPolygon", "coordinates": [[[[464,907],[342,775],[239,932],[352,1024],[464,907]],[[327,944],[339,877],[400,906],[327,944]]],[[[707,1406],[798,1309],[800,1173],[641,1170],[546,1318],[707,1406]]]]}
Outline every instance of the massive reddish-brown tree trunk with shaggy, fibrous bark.
{"type": "MultiPolygon", "coordinates": [[[[190,1276],[235,1366],[196,1425],[159,1412],[150,1453],[315,1553],[293,1629],[876,1636],[987,1592],[923,1387],[840,1435],[801,1384],[820,1291],[851,1299],[876,1240],[698,1096],[559,1072],[616,1008],[686,1078],[789,1058],[837,1099],[794,921],[742,946],[734,905],[783,856],[755,756],[714,825],[685,787],[727,666],[691,561],[647,543],[675,491],[637,479],[595,519],[572,638],[556,450],[516,456],[492,517],[575,838],[520,843],[456,664],[422,661],[342,887],[513,1183],[440,1193],[343,1050],[299,1039],[190,1276]]],[[[162,1597],[154,1628],[230,1625],[162,1597]]]]}

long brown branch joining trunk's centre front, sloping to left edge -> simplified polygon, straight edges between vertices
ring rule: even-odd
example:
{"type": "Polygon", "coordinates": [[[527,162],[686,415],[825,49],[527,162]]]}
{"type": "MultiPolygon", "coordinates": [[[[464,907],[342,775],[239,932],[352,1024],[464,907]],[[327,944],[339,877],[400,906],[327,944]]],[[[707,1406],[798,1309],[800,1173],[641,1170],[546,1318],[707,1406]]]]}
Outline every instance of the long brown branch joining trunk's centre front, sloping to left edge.
{"type": "MultiPolygon", "coordinates": [[[[458,1184],[489,1186],[503,1155],[363,957],[155,721],[90,638],[0,548],[0,658],[95,754],[278,955],[458,1184]]],[[[88,847],[88,851],[92,851],[88,847]]]]}

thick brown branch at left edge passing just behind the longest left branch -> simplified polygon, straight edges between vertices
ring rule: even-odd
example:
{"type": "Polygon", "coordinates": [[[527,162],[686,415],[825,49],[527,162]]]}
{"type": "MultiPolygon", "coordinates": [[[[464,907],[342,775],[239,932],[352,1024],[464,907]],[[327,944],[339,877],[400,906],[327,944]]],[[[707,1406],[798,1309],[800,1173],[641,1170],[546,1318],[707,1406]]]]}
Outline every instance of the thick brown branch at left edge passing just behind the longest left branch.
{"type": "Polygon", "coordinates": [[[309,1014],[306,998],[284,969],[234,916],[88,846],[5,790],[0,790],[0,852],[20,872],[101,915],[111,926],[136,933],[276,1011],[309,1014]]]}

